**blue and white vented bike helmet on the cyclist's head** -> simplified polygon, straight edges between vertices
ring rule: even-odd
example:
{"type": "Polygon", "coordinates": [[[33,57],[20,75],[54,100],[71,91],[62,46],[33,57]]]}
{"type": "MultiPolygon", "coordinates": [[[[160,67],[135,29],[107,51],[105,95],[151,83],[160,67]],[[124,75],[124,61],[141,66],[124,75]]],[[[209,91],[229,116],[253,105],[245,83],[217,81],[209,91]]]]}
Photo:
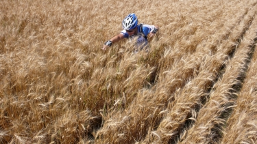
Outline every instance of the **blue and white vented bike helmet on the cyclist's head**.
{"type": "Polygon", "coordinates": [[[138,18],[136,18],[134,13],[127,15],[122,21],[122,27],[125,30],[134,29],[136,25],[138,25],[138,18]]]}

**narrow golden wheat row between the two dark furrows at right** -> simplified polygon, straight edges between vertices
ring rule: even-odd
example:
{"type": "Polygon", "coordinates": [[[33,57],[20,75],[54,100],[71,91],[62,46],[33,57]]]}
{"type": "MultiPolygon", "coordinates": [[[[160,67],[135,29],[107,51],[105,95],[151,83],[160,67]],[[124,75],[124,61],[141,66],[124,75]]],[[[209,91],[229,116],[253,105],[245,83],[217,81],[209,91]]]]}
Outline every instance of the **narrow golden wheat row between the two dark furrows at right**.
{"type": "MultiPolygon", "coordinates": [[[[254,10],[254,8],[252,8],[254,10]]],[[[213,91],[210,93],[210,100],[199,111],[193,128],[188,130],[182,137],[181,143],[213,143],[219,141],[220,130],[228,117],[229,109],[235,104],[238,90],[243,83],[243,76],[247,70],[247,62],[253,48],[252,38],[256,37],[256,18],[249,27],[249,31],[244,36],[238,51],[228,62],[222,79],[215,83],[213,91]],[[225,116],[227,115],[227,116],[225,116]]],[[[241,40],[240,40],[241,41],[241,40]]]]}

